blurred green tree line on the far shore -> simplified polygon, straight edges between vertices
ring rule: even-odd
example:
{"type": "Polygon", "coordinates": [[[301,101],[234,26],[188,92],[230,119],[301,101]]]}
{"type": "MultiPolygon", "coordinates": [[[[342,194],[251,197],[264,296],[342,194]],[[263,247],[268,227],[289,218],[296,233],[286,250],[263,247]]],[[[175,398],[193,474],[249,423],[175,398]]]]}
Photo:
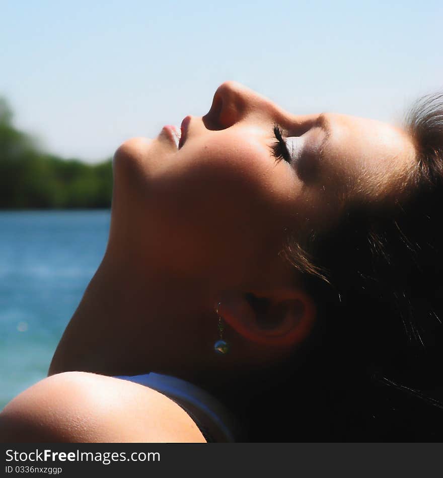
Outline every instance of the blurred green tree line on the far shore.
{"type": "Polygon", "coordinates": [[[41,152],[0,98],[0,209],[108,208],[111,194],[111,160],[89,165],[41,152]]]}

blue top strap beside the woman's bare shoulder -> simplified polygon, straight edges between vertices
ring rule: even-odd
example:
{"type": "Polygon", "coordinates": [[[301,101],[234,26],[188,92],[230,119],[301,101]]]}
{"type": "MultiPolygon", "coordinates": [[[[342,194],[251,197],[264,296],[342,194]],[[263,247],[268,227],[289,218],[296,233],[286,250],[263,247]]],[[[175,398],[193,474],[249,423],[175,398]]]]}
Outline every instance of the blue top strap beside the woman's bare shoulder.
{"type": "Polygon", "coordinates": [[[195,422],[207,442],[235,442],[240,428],[233,415],[212,395],[180,378],[159,373],[117,376],[163,393],[195,422]]]}

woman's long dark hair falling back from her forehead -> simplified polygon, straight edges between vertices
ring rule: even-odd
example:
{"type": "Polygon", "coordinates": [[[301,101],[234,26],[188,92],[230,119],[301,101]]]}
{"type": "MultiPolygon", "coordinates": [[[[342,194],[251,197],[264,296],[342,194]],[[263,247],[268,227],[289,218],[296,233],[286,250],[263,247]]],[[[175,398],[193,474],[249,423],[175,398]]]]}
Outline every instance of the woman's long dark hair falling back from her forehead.
{"type": "Polygon", "coordinates": [[[282,374],[296,410],[286,441],[443,435],[443,93],[418,100],[405,130],[416,151],[406,197],[351,204],[333,230],[283,251],[319,307],[282,374]]]}

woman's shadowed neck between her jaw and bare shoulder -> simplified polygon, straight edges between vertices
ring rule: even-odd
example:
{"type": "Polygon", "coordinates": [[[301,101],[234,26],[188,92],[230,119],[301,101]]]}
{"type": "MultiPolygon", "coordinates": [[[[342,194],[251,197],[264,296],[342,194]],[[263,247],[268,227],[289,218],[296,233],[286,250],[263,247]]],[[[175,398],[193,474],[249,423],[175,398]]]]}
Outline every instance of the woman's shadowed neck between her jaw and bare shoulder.
{"type": "Polygon", "coordinates": [[[263,385],[262,369],[254,345],[232,328],[226,334],[230,353],[214,352],[218,321],[212,281],[177,278],[128,257],[109,256],[66,327],[49,374],[157,372],[190,381],[232,409],[247,406],[263,385]]]}

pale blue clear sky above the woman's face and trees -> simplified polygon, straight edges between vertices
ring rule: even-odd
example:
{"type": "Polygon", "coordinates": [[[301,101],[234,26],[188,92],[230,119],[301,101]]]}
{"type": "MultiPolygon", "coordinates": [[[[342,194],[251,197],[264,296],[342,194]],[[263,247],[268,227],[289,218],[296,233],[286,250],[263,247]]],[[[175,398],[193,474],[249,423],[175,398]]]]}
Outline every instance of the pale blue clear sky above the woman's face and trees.
{"type": "Polygon", "coordinates": [[[0,0],[0,95],[42,147],[97,162],[203,115],[235,79],[293,113],[398,122],[443,89],[441,0],[0,0]]]}

